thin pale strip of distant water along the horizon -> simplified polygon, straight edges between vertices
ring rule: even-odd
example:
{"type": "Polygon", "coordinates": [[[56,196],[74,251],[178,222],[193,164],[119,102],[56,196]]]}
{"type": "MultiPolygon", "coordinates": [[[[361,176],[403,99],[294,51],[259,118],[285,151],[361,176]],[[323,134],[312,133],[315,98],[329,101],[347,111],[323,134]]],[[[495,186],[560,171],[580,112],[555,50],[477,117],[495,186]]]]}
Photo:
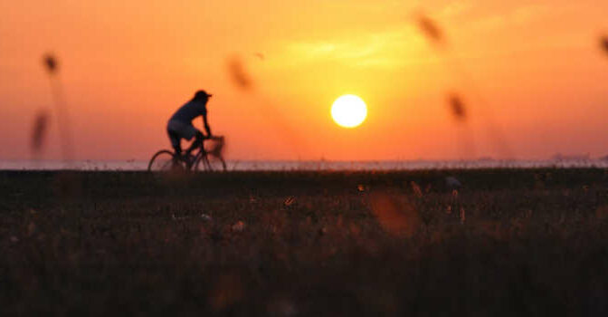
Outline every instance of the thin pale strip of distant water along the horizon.
{"type": "MultiPolygon", "coordinates": [[[[446,168],[608,168],[608,160],[229,160],[228,170],[416,170],[446,168]]],[[[146,170],[143,160],[0,160],[0,170],[146,170]]]]}

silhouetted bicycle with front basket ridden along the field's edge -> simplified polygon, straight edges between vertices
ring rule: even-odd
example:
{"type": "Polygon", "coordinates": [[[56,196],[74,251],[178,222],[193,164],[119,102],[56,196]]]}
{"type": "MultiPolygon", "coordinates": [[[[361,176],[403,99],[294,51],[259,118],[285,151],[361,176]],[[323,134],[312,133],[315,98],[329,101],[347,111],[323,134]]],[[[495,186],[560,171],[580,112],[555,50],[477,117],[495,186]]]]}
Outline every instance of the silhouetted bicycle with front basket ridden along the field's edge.
{"type": "Polygon", "coordinates": [[[223,137],[211,137],[203,139],[198,152],[188,157],[177,156],[172,150],[161,149],[150,159],[150,162],[147,164],[147,171],[179,172],[204,170],[223,172],[226,170],[226,162],[222,156],[223,147],[223,137]],[[208,144],[207,149],[205,149],[205,143],[208,144]]]}

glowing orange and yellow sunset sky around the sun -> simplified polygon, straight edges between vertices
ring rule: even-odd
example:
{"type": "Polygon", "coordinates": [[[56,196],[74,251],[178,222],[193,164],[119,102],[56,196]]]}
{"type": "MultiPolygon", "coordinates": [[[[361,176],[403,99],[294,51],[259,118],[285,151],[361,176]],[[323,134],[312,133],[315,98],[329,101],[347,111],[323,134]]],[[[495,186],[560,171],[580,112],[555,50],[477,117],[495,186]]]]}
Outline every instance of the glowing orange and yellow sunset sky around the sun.
{"type": "MultiPolygon", "coordinates": [[[[54,111],[47,52],[61,62],[76,159],[168,147],[166,120],[199,88],[214,93],[229,159],[506,155],[489,126],[518,159],[608,154],[605,1],[0,0],[0,12],[0,159],[31,158],[34,115],[54,111]],[[443,27],[446,52],[419,32],[421,11],[443,27]],[[233,56],[252,91],[231,82],[233,56]],[[448,91],[467,104],[466,127],[448,91]],[[345,93],[368,106],[353,130],[329,112],[345,93]]],[[[44,158],[59,159],[52,119],[44,158]]]]}

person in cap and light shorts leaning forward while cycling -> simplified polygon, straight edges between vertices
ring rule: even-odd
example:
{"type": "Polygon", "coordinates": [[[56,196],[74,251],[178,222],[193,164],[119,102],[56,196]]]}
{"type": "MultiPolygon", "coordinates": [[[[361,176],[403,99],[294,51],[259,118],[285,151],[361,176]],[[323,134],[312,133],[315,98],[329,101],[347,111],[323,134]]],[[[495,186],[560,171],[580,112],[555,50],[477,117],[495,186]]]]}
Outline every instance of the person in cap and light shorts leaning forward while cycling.
{"type": "Polygon", "coordinates": [[[175,149],[177,156],[182,156],[181,139],[190,140],[195,138],[190,148],[185,150],[185,156],[190,157],[192,150],[198,148],[203,139],[213,136],[209,122],[207,121],[207,101],[209,101],[211,96],[206,91],[196,91],[195,97],[178,109],[167,122],[166,133],[169,135],[171,145],[175,149]],[[192,125],[192,121],[198,116],[203,117],[204,130],[207,132],[206,137],[192,125]]]}

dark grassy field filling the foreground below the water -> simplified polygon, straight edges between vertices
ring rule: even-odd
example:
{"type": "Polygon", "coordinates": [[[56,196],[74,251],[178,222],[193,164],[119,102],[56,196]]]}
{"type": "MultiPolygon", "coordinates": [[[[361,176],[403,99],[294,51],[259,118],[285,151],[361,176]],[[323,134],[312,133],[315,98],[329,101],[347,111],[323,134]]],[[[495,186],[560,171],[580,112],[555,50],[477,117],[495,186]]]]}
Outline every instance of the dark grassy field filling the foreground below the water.
{"type": "Polygon", "coordinates": [[[608,315],[603,169],[0,172],[0,217],[2,316],[608,315]]]}

